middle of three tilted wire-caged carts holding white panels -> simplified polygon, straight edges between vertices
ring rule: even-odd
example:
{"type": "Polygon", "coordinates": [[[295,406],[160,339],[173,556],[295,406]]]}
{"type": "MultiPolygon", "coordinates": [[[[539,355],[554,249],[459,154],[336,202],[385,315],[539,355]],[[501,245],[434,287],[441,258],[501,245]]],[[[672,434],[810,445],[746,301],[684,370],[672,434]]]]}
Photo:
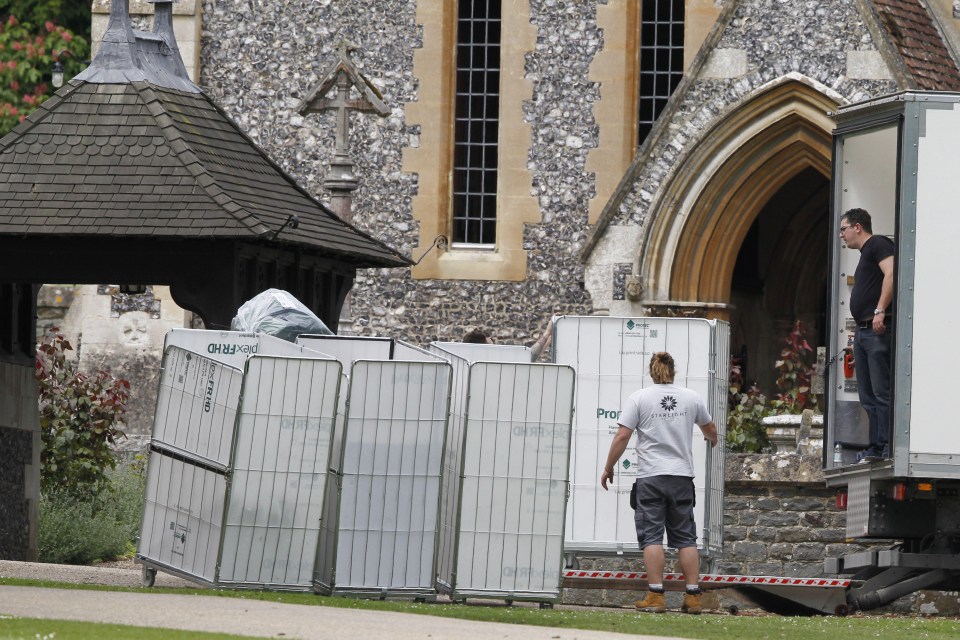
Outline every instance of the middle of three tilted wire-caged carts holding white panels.
{"type": "Polygon", "coordinates": [[[437,517],[450,364],[387,338],[300,336],[343,364],[314,588],[436,593],[437,517]]]}

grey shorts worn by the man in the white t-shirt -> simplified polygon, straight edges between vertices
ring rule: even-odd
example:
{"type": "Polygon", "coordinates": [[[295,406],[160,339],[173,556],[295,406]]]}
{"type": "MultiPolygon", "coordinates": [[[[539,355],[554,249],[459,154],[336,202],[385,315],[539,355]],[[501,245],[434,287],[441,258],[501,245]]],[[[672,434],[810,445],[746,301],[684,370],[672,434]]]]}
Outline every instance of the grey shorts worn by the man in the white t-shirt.
{"type": "Polygon", "coordinates": [[[674,549],[697,546],[697,525],[693,508],[697,504],[693,478],[687,476],[653,476],[637,478],[637,542],[643,549],[663,544],[674,549]]]}

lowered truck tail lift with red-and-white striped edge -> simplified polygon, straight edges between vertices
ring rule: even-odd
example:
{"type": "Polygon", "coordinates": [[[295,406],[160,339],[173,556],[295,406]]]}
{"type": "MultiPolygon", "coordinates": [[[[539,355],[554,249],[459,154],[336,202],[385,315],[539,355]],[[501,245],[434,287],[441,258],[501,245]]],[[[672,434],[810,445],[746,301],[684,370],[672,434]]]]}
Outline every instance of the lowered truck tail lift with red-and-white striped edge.
{"type": "MultiPolygon", "coordinates": [[[[640,571],[603,571],[566,569],[565,589],[644,590],[647,574],[640,571]]],[[[701,574],[700,588],[735,589],[759,607],[780,615],[846,615],[847,592],[860,582],[843,578],[786,578],[779,576],[739,576],[701,574]]],[[[667,591],[683,591],[682,573],[665,573],[667,591]]]]}

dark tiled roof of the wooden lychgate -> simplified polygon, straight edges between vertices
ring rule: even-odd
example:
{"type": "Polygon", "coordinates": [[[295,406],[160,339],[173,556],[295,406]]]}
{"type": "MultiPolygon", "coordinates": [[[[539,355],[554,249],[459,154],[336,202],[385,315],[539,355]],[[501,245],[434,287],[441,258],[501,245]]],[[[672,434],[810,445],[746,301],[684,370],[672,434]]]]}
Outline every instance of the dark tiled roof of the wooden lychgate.
{"type": "Polygon", "coordinates": [[[279,241],[409,264],[313,199],[202,93],[75,81],[0,139],[0,234],[269,240],[291,215],[299,227],[279,241]]]}

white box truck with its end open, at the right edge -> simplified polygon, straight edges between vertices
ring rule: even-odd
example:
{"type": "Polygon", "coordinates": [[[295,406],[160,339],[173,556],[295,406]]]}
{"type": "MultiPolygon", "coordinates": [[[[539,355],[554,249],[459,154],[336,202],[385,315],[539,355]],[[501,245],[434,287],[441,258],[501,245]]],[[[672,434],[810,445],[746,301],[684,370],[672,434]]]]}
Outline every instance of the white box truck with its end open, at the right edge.
{"type": "MultiPolygon", "coordinates": [[[[960,343],[956,296],[944,286],[960,232],[960,94],[909,91],[833,115],[833,230],[859,207],[873,233],[896,245],[889,458],[856,464],[848,446],[867,442],[854,368],[831,368],[827,392],[824,450],[836,459],[827,456],[825,475],[846,499],[847,536],[899,541],[827,561],[827,571],[864,581],[848,594],[850,608],[871,609],[918,589],[960,588],[960,431],[947,417],[960,343]]],[[[855,334],[849,299],[859,252],[831,235],[828,348],[841,354],[855,334]]]]}

